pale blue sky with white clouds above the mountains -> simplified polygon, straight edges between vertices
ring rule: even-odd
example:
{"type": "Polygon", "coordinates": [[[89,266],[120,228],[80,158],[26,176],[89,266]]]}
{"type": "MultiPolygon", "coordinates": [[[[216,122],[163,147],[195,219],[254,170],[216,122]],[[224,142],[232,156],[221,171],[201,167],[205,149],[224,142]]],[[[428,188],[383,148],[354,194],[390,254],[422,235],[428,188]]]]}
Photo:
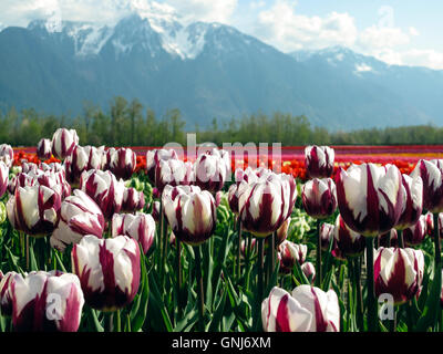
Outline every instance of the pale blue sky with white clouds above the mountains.
{"type": "Polygon", "coordinates": [[[343,45],[390,64],[443,70],[440,0],[0,0],[0,28],[55,10],[63,20],[112,22],[153,3],[185,23],[234,25],[284,52],[343,45]]]}

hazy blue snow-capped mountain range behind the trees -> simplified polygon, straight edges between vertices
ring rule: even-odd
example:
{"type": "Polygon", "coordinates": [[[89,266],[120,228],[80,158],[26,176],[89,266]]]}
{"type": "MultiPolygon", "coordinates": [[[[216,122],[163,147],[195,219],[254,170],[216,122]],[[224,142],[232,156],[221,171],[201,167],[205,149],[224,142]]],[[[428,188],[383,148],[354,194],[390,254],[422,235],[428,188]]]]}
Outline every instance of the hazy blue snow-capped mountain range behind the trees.
{"type": "Polygon", "coordinates": [[[113,24],[32,21],[0,32],[0,110],[76,114],[122,95],[194,127],[256,112],[305,114],[329,128],[443,123],[443,72],[390,66],[334,46],[279,52],[171,8],[127,9],[113,24]]]}

